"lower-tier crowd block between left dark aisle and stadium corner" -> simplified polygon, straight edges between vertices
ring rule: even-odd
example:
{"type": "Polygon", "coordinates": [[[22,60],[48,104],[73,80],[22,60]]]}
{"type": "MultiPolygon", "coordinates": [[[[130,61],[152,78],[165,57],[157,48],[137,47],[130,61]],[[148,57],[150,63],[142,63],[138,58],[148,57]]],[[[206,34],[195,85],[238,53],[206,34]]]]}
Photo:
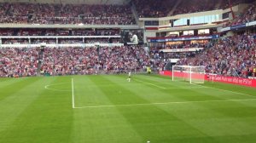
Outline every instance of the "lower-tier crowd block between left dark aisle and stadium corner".
{"type": "Polygon", "coordinates": [[[142,47],[44,49],[42,73],[49,75],[95,74],[142,70],[149,57],[142,47]]]}

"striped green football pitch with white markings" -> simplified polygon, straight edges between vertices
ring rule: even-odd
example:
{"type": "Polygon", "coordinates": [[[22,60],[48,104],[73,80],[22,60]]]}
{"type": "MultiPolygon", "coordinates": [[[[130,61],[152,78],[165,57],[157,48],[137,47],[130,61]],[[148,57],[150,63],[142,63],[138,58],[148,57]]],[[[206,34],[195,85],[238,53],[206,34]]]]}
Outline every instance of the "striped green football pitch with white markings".
{"type": "Polygon", "coordinates": [[[126,77],[0,78],[0,142],[256,142],[256,89],[126,77]]]}

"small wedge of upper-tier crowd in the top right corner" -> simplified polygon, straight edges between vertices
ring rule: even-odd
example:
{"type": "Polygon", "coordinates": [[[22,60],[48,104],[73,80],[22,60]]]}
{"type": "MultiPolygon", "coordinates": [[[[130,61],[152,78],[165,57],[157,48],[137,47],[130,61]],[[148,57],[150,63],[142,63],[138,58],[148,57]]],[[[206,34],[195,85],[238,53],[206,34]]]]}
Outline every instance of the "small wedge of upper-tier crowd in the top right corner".
{"type": "Polygon", "coordinates": [[[228,21],[224,26],[237,26],[247,22],[256,20],[256,3],[253,3],[244,10],[244,12],[237,14],[234,20],[228,21]]]}

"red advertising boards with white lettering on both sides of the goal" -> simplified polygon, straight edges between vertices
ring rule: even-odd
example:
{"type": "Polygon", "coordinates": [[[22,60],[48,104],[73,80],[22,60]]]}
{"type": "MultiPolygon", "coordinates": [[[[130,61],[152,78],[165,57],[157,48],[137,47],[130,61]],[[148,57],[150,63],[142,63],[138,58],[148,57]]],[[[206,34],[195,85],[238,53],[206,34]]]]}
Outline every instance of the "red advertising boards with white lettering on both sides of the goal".
{"type": "MultiPolygon", "coordinates": [[[[163,71],[163,72],[160,72],[160,75],[172,77],[172,72],[163,71]]],[[[175,73],[175,75],[177,77],[183,77],[183,74],[178,72],[175,73]]],[[[248,78],[241,78],[241,77],[224,77],[219,75],[206,75],[205,80],[211,81],[211,82],[213,81],[218,83],[229,83],[229,84],[236,84],[236,85],[256,88],[256,79],[248,79],[248,78]]]]}

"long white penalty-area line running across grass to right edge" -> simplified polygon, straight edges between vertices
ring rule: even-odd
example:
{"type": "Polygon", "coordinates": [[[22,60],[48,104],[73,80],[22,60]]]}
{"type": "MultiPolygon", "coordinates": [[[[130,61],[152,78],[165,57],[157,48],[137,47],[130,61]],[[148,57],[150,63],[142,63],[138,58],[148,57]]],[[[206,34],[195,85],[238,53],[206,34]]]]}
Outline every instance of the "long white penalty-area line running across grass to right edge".
{"type": "MultiPolygon", "coordinates": [[[[244,99],[247,100],[256,100],[255,99],[244,99]]],[[[119,107],[119,106],[152,106],[152,105],[171,105],[171,104],[189,104],[189,103],[207,103],[207,102],[227,102],[227,101],[243,101],[243,100],[198,100],[198,101],[180,101],[180,102],[164,102],[164,103],[145,103],[145,104],[130,104],[130,105],[115,105],[115,106],[80,106],[74,107],[76,109],[82,108],[102,108],[102,107],[119,107]]]]}

